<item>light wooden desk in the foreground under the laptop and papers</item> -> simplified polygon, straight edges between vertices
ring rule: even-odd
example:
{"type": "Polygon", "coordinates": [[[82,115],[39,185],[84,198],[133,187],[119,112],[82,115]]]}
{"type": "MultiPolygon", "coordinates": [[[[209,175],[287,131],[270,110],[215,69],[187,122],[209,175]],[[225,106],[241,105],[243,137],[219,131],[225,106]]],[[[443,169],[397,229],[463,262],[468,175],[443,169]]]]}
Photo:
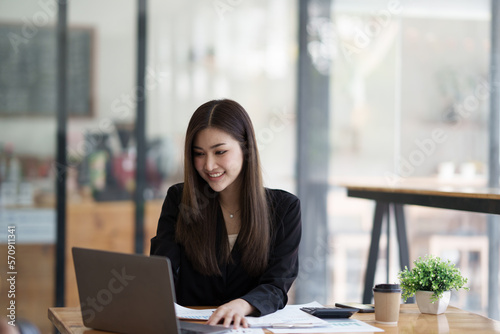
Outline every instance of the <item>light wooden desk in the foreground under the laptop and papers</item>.
{"type": "MultiPolygon", "coordinates": [[[[61,334],[107,333],[84,327],[78,307],[49,308],[49,319],[61,334]]],[[[397,326],[377,324],[373,313],[358,313],[353,315],[353,319],[359,319],[372,326],[381,328],[387,334],[500,333],[500,322],[451,306],[448,307],[448,310],[444,314],[436,316],[421,314],[415,304],[403,304],[401,305],[397,326]]],[[[271,333],[269,331],[265,332],[271,333]]]]}

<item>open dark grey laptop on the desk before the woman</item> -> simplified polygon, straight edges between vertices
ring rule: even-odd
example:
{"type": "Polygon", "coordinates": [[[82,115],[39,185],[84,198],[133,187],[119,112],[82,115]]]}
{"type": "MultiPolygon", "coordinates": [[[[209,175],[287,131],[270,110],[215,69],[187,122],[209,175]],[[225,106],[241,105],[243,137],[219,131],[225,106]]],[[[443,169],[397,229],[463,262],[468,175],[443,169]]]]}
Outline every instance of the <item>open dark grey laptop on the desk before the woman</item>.
{"type": "Polygon", "coordinates": [[[86,327],[125,334],[230,331],[178,320],[168,258],[77,247],[72,252],[86,327]]]}

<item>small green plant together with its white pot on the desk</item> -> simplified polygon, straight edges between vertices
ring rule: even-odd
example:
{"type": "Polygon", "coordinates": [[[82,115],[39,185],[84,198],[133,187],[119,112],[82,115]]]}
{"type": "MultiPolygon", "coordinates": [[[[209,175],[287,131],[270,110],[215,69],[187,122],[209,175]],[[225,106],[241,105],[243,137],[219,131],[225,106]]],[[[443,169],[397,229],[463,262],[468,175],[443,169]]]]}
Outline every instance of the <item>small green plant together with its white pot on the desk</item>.
{"type": "Polygon", "coordinates": [[[398,274],[402,297],[406,301],[415,295],[418,308],[422,313],[441,314],[450,302],[450,290],[464,289],[467,278],[450,260],[427,255],[413,261],[415,267],[405,267],[398,274]]]}

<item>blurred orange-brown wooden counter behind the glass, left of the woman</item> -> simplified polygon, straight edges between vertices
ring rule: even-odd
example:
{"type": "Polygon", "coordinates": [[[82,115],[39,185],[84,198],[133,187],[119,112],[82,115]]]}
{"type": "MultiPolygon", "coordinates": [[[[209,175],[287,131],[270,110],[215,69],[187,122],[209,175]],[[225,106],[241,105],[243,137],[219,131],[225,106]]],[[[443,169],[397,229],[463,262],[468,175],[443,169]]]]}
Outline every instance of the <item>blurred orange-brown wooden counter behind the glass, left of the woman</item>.
{"type": "MultiPolygon", "coordinates": [[[[150,201],[145,205],[144,254],[149,254],[150,239],[156,234],[163,201],[150,201]]],[[[71,247],[79,246],[124,253],[134,252],[135,206],[131,201],[85,202],[69,204],[66,220],[66,282],[65,305],[79,306],[75,269],[71,247]]],[[[55,224],[55,222],[54,222],[55,224]]],[[[44,227],[45,228],[45,227],[44,227]]],[[[4,232],[4,231],[2,231],[4,232]]],[[[28,320],[40,332],[53,333],[47,310],[55,303],[56,247],[53,243],[27,243],[26,235],[19,231],[16,243],[16,320],[28,320]]],[[[0,244],[0,271],[7,268],[7,245],[0,244]]],[[[2,274],[0,307],[9,306],[10,287],[2,274]]]]}

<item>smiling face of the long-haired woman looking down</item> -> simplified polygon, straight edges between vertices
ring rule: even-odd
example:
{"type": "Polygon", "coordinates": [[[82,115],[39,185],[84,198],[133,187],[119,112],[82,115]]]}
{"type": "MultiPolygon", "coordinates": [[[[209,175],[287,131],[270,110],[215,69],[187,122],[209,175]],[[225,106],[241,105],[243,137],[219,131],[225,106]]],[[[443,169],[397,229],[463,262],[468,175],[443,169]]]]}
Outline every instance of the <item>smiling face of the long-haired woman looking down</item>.
{"type": "Polygon", "coordinates": [[[216,192],[238,191],[243,167],[240,144],[227,132],[206,128],[193,141],[194,167],[216,192]]]}

